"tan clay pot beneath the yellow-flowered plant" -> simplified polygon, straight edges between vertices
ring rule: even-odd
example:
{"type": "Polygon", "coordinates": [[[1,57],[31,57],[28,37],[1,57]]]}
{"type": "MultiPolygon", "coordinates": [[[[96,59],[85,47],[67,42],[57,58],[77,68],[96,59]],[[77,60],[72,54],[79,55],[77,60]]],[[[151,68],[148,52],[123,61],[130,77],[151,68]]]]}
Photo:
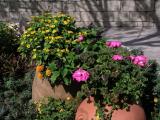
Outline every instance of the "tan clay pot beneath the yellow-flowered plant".
{"type": "Polygon", "coordinates": [[[32,84],[32,100],[38,102],[40,100],[46,101],[48,97],[62,100],[73,98],[70,91],[69,87],[62,84],[52,87],[48,80],[38,79],[36,73],[32,84]]]}

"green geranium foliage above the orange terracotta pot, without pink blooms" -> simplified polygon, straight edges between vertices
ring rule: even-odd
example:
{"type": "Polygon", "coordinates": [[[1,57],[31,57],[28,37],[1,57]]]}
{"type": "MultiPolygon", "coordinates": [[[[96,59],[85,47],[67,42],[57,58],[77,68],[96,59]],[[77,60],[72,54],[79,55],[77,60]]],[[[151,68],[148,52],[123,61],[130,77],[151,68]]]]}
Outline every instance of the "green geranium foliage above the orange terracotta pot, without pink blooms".
{"type": "MultiPolygon", "coordinates": [[[[128,104],[140,103],[145,93],[149,73],[156,76],[153,66],[139,67],[127,57],[139,54],[125,48],[108,48],[105,45],[93,45],[78,57],[79,67],[89,71],[90,79],[82,85],[82,93],[94,96],[97,104],[112,105],[115,108],[127,108],[128,104]],[[125,56],[122,61],[113,61],[112,56],[125,56]]],[[[155,78],[153,78],[155,79],[155,78]]]]}

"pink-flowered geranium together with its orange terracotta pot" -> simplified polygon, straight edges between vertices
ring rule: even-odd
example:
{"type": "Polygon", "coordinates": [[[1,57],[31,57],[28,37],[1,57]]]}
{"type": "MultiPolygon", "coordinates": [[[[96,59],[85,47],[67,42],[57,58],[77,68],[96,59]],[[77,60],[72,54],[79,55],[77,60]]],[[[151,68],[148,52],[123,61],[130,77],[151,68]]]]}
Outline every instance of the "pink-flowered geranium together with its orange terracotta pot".
{"type": "Polygon", "coordinates": [[[129,51],[119,41],[99,41],[81,53],[78,61],[90,75],[81,87],[86,99],[77,110],[76,120],[146,119],[140,107],[151,69],[146,56],[129,51]]]}

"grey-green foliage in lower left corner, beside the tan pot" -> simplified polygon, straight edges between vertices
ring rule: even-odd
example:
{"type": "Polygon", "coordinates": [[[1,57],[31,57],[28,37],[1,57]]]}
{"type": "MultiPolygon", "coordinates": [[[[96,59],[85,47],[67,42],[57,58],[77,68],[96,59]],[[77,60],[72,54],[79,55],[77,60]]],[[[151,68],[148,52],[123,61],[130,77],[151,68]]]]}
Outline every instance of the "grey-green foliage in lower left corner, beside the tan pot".
{"type": "Polygon", "coordinates": [[[35,107],[31,102],[31,84],[33,72],[25,77],[7,76],[0,90],[1,120],[33,120],[35,107]]]}

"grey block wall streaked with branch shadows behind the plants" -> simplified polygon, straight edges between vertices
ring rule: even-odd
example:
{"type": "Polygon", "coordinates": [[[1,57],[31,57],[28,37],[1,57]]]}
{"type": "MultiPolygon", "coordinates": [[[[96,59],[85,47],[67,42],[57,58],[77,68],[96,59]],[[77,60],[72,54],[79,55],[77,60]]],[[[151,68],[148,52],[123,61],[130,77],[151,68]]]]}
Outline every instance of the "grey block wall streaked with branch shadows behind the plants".
{"type": "Polygon", "coordinates": [[[160,26],[160,0],[0,0],[1,21],[25,24],[44,11],[68,13],[80,26],[160,26]]]}

